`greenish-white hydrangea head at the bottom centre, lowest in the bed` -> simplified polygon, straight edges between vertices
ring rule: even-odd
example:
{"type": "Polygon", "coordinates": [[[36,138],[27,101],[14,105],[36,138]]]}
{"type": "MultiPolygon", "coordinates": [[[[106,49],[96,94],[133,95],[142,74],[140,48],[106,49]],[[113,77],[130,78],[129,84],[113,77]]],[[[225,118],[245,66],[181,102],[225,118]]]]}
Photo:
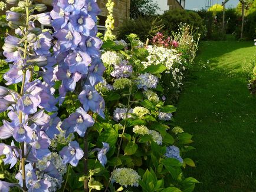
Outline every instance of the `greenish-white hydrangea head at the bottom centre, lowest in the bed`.
{"type": "Polygon", "coordinates": [[[132,168],[116,168],[113,171],[112,182],[119,183],[120,186],[139,186],[140,176],[132,168]]]}

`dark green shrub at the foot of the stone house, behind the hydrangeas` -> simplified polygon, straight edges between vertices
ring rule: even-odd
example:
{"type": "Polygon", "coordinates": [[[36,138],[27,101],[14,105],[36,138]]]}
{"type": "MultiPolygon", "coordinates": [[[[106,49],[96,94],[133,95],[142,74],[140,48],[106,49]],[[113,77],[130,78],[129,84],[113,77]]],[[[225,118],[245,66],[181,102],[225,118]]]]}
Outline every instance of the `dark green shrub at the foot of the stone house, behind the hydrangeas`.
{"type": "Polygon", "coordinates": [[[146,16],[136,19],[128,19],[117,29],[117,38],[126,39],[126,34],[137,34],[141,41],[151,39],[157,32],[163,28],[159,17],[146,16]]]}

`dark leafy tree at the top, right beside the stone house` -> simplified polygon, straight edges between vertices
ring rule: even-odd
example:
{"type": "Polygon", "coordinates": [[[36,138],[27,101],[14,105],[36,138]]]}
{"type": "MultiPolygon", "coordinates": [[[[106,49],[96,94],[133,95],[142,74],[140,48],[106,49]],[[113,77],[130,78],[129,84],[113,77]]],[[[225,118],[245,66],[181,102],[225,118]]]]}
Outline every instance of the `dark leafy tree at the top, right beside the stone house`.
{"type": "Polygon", "coordinates": [[[159,10],[157,2],[153,0],[132,0],[130,7],[130,18],[137,18],[138,16],[155,15],[159,10]]]}

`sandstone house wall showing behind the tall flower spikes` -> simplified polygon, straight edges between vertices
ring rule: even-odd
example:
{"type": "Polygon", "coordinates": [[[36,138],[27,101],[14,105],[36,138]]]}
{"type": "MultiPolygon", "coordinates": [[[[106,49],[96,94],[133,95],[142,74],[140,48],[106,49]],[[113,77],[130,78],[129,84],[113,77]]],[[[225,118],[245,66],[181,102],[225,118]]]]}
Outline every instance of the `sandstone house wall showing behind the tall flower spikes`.
{"type": "MultiPolygon", "coordinates": [[[[114,1],[114,12],[113,16],[115,19],[115,26],[118,27],[122,22],[129,18],[130,15],[130,0],[113,0],[114,1]]],[[[37,2],[42,2],[47,5],[51,5],[52,0],[37,0],[37,2]]],[[[100,15],[107,16],[107,9],[106,3],[107,0],[98,0],[97,3],[99,4],[100,9],[102,10],[100,15]]]]}

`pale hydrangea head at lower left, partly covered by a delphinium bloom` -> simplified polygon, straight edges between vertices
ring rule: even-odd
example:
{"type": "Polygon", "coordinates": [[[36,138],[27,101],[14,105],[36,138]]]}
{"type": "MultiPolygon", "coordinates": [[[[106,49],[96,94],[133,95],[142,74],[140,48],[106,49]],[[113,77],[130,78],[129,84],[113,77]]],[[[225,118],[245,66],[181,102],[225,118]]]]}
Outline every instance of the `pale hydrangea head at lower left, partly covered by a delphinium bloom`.
{"type": "Polygon", "coordinates": [[[36,167],[42,171],[45,170],[45,168],[47,168],[47,162],[50,162],[54,165],[55,168],[57,168],[58,173],[61,175],[61,177],[59,179],[54,178],[54,177],[50,177],[48,176],[48,174],[44,174],[41,172],[38,175],[38,179],[43,179],[43,178],[47,178],[48,181],[51,182],[51,187],[48,188],[48,191],[57,191],[58,189],[61,188],[61,183],[63,183],[63,176],[64,174],[67,172],[67,165],[62,163],[63,158],[61,158],[60,155],[58,155],[57,153],[51,153],[51,155],[48,155],[47,157],[42,158],[42,160],[38,161],[38,163],[36,164],[36,167]]]}

